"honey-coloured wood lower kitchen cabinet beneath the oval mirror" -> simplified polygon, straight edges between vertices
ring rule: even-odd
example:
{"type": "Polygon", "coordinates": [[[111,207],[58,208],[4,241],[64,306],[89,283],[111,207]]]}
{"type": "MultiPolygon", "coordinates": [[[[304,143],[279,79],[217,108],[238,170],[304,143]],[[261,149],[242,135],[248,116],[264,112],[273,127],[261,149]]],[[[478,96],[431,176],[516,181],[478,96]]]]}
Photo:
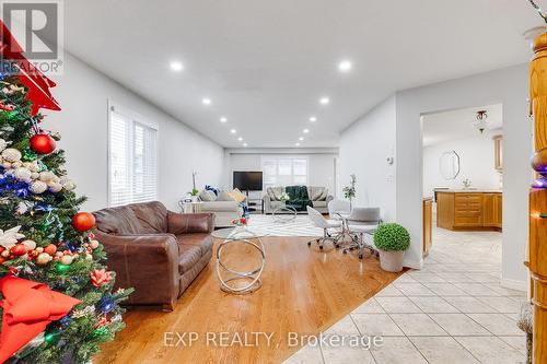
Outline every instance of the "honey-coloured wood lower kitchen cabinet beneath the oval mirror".
{"type": "Polygon", "coordinates": [[[501,230],[501,192],[437,192],[437,226],[454,230],[501,230]]]}

